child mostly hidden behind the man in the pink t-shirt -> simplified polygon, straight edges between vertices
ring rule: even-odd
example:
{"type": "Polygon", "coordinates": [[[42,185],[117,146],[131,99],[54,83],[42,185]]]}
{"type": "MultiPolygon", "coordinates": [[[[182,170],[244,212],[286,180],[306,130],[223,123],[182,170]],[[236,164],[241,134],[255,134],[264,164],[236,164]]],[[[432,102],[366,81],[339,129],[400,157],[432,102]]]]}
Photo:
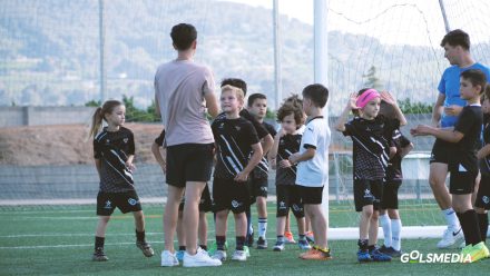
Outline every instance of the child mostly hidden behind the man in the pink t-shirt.
{"type": "MultiPolygon", "coordinates": [[[[167,161],[166,161],[166,148],[165,148],[165,129],[161,130],[160,135],[155,139],[151,145],[151,152],[155,156],[158,165],[160,166],[164,174],[167,174],[167,161]],[[161,149],[161,151],[160,151],[161,149]]],[[[183,213],[184,213],[185,197],[182,198],[180,205],[178,207],[178,221],[177,221],[177,239],[178,239],[178,250],[176,257],[179,262],[184,260],[184,253],[186,250],[185,245],[185,229],[183,225],[183,213]]],[[[206,213],[212,210],[212,199],[209,194],[209,187],[206,185],[204,187],[203,194],[200,195],[199,203],[199,229],[197,233],[199,239],[199,247],[203,250],[207,250],[207,218],[206,213]]]]}

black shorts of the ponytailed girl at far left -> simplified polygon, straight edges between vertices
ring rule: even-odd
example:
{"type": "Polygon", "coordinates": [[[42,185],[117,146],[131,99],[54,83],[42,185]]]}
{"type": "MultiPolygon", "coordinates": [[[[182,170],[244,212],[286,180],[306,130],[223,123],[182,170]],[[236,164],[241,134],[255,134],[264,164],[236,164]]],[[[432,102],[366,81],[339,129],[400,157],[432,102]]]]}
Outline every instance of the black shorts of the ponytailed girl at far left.
{"type": "Polygon", "coordinates": [[[119,208],[122,214],[141,210],[138,195],[135,190],[125,193],[104,193],[97,195],[97,215],[110,216],[119,208]]]}

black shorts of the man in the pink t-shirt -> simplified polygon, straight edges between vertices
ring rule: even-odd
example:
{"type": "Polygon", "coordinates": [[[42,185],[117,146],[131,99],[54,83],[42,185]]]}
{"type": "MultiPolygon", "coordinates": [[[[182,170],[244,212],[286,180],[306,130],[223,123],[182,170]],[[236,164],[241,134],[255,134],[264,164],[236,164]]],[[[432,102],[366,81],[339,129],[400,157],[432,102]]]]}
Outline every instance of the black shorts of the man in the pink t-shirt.
{"type": "Polygon", "coordinates": [[[187,181],[206,183],[213,169],[214,144],[182,144],[167,148],[167,184],[185,187],[187,181]]]}

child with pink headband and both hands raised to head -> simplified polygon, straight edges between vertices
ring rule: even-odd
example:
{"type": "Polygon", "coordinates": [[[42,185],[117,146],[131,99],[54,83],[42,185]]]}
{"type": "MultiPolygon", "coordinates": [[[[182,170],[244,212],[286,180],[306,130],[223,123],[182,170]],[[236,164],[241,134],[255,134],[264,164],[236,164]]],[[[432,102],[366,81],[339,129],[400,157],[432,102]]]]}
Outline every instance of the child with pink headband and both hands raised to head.
{"type": "Polygon", "coordinates": [[[361,211],[357,241],[359,262],[389,262],[391,257],[376,248],[380,200],[383,195],[383,178],[390,154],[390,139],[395,129],[406,120],[388,92],[361,89],[351,93],[349,102],[336,122],[336,130],[353,140],[353,178],[355,210],[361,211]],[[381,100],[393,106],[396,118],[378,115],[381,100]],[[359,112],[347,122],[351,111],[359,112]]]}

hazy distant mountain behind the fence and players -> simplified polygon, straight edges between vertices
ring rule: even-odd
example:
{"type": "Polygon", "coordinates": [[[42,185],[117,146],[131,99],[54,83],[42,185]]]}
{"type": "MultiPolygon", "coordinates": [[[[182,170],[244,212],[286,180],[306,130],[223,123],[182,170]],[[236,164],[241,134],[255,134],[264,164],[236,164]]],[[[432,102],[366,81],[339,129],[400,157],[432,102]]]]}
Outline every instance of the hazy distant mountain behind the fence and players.
{"type": "MultiPolygon", "coordinates": [[[[84,105],[99,98],[97,0],[9,0],[0,4],[0,105],[84,105]]],[[[224,1],[105,1],[107,95],[153,100],[153,78],[175,58],[169,31],[179,22],[198,30],[196,60],[216,82],[244,78],[251,92],[274,97],[272,11],[224,1]]],[[[284,96],[313,82],[313,27],[281,17],[284,96]]],[[[486,46],[488,49],[488,45],[486,46]]],[[[433,100],[440,49],[383,46],[351,33],[329,33],[331,107],[362,88],[371,66],[399,98],[433,100]]],[[[488,51],[487,51],[488,52],[488,51]]],[[[343,103],[342,103],[343,105],[343,103]]]]}

